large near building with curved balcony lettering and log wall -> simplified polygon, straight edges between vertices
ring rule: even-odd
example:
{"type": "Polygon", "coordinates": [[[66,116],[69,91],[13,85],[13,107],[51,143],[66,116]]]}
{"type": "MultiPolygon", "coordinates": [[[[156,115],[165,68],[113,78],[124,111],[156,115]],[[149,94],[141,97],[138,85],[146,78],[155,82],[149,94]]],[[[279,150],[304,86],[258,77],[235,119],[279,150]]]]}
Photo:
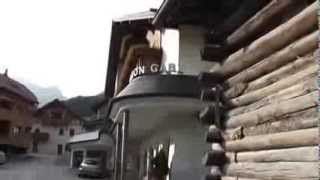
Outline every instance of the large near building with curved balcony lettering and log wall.
{"type": "Polygon", "coordinates": [[[179,2],[113,21],[115,180],[318,179],[317,2],[179,2]]]}

